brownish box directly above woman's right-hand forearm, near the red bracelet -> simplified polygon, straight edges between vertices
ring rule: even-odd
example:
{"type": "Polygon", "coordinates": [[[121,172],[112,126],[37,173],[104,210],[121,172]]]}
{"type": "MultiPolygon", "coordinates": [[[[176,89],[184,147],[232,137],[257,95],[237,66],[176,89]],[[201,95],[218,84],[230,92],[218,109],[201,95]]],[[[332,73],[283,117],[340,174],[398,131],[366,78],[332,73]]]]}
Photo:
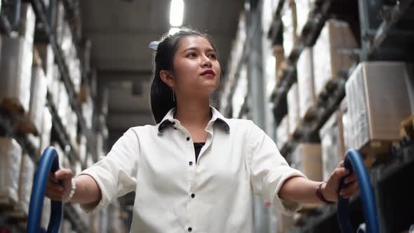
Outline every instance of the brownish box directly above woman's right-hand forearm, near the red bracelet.
{"type": "Polygon", "coordinates": [[[302,171],[309,180],[323,180],[321,145],[315,143],[298,144],[292,153],[291,166],[302,171]]]}

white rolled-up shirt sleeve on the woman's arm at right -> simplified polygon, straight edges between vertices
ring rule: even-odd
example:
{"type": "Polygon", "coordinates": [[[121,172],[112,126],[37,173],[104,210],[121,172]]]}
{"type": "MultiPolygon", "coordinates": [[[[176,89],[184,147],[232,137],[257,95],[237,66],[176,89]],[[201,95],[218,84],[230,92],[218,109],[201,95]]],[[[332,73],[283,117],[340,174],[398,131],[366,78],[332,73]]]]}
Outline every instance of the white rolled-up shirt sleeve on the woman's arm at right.
{"type": "Polygon", "coordinates": [[[286,214],[293,214],[303,204],[281,199],[279,190],[283,182],[293,176],[306,178],[300,171],[291,168],[281,156],[274,141],[251,121],[248,133],[248,159],[253,193],[274,204],[286,214]]]}

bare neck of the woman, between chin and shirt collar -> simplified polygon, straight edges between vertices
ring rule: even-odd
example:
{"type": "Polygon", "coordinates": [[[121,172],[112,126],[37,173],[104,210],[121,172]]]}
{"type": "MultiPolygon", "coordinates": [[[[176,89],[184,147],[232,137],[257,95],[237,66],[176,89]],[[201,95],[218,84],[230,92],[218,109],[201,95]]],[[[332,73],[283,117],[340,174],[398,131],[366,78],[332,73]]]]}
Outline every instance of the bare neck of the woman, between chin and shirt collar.
{"type": "Polygon", "coordinates": [[[175,119],[183,126],[205,127],[211,120],[211,109],[209,100],[184,100],[177,101],[175,119]]]}

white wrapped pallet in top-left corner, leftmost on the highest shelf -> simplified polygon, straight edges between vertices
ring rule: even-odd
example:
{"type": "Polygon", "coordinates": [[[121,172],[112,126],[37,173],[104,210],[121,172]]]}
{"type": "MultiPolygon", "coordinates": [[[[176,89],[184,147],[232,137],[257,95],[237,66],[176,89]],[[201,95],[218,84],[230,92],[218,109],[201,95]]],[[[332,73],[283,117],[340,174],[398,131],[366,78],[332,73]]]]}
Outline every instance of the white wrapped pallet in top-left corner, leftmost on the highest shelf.
{"type": "Polygon", "coordinates": [[[18,32],[20,36],[25,38],[26,41],[29,42],[31,46],[33,46],[36,16],[34,15],[32,4],[24,3],[20,7],[18,32]]]}

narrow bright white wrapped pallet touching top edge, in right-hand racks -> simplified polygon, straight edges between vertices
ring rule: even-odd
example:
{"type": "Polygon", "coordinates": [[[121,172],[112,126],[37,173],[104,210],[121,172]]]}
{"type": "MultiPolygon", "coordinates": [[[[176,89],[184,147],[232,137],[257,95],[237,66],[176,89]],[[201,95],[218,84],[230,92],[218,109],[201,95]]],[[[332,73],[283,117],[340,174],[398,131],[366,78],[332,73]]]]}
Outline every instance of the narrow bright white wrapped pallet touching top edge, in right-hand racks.
{"type": "Polygon", "coordinates": [[[293,47],[298,44],[298,34],[296,34],[296,6],[294,0],[287,0],[281,12],[283,22],[283,49],[285,55],[292,53],[293,47]]]}

